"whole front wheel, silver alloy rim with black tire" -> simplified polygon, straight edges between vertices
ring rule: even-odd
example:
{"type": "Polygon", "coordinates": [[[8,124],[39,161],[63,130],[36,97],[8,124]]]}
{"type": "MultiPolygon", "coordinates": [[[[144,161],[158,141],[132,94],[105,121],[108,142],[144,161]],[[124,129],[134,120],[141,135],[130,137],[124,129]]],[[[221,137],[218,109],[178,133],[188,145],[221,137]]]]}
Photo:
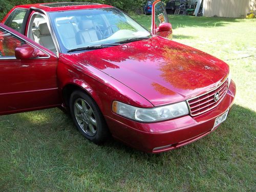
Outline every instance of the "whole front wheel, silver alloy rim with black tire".
{"type": "Polygon", "coordinates": [[[95,101],[82,91],[75,91],[70,97],[70,111],[81,134],[96,144],[106,140],[108,126],[95,101]]]}

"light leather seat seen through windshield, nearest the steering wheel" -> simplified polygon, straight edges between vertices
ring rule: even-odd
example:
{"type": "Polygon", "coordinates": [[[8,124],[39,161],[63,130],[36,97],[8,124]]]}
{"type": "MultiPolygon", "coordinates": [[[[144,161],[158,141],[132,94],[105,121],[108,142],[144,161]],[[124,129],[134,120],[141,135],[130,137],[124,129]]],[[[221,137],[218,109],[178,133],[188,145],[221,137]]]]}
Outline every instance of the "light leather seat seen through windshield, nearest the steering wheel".
{"type": "Polygon", "coordinates": [[[77,45],[99,40],[92,20],[81,20],[78,28],[80,31],[76,34],[77,45]]]}

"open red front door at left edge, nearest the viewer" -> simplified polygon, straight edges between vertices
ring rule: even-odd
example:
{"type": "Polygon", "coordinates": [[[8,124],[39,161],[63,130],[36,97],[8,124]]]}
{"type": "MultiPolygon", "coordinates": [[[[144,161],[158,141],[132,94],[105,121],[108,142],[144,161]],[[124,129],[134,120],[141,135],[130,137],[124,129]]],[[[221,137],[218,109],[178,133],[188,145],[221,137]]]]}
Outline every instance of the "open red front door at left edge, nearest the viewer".
{"type": "Polygon", "coordinates": [[[57,63],[53,52],[0,24],[0,115],[60,105],[57,63]],[[24,46],[36,58],[17,59],[15,49],[24,46]]]}

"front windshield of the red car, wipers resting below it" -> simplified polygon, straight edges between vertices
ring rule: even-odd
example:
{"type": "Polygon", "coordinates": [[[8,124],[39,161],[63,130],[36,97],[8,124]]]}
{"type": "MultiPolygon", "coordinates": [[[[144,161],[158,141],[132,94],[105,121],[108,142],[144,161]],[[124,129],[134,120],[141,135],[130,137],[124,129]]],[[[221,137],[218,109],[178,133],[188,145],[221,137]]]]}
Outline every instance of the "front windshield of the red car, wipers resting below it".
{"type": "Polygon", "coordinates": [[[114,46],[151,35],[116,8],[50,12],[49,15],[62,53],[93,46],[114,46]]]}

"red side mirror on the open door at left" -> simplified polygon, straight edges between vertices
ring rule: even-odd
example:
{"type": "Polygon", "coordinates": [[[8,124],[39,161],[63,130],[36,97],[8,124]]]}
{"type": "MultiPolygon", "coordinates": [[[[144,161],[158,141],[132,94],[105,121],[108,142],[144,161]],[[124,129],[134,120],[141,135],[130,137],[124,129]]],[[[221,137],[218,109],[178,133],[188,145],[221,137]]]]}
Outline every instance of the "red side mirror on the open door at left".
{"type": "Polygon", "coordinates": [[[30,45],[22,45],[16,47],[15,57],[17,59],[31,59],[37,57],[48,57],[48,55],[39,49],[33,48],[30,45]]]}

